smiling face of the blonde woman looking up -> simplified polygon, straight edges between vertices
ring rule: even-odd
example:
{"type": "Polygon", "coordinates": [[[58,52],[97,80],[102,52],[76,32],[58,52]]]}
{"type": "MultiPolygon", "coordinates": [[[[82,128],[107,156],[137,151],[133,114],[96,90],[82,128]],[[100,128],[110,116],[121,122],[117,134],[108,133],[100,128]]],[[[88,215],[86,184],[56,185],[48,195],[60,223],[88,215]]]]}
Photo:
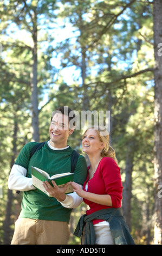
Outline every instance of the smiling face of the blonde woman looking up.
{"type": "Polygon", "coordinates": [[[98,133],[93,129],[85,132],[82,140],[82,150],[87,154],[95,154],[101,152],[104,143],[100,141],[98,133]]]}

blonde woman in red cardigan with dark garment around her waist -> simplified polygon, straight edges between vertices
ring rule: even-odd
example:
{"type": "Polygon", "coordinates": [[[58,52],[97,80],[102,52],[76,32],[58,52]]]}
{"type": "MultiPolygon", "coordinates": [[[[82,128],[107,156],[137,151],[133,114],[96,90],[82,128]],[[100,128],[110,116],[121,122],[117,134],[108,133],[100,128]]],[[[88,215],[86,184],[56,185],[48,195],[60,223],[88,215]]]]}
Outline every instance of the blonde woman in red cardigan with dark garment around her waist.
{"type": "Polygon", "coordinates": [[[91,127],[83,135],[82,149],[90,166],[83,189],[75,182],[72,185],[90,209],[81,217],[74,235],[80,237],[86,224],[85,244],[134,244],[121,211],[120,168],[109,136],[101,135],[102,131],[100,127],[91,127]]]}

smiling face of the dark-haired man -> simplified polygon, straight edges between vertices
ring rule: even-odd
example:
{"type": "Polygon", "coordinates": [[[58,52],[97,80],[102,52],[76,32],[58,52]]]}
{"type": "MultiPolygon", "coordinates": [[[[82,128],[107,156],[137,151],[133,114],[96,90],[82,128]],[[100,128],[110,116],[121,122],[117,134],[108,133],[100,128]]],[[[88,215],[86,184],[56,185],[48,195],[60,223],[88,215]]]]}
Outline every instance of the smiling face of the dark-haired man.
{"type": "Polygon", "coordinates": [[[49,126],[50,144],[55,148],[67,147],[67,140],[74,130],[69,129],[67,115],[56,113],[49,126]]]}

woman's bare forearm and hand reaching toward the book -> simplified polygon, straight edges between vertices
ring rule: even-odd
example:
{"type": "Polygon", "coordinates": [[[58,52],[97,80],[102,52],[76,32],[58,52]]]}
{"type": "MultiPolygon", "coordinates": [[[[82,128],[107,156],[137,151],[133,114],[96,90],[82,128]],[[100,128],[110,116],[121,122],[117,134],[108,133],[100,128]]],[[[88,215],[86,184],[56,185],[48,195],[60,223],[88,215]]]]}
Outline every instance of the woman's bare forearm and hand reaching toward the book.
{"type": "Polygon", "coordinates": [[[75,182],[72,182],[72,186],[74,187],[74,191],[78,194],[78,196],[85,198],[91,202],[96,204],[102,204],[106,206],[112,206],[112,199],[109,194],[94,194],[87,191],[82,190],[82,188],[75,182]]]}

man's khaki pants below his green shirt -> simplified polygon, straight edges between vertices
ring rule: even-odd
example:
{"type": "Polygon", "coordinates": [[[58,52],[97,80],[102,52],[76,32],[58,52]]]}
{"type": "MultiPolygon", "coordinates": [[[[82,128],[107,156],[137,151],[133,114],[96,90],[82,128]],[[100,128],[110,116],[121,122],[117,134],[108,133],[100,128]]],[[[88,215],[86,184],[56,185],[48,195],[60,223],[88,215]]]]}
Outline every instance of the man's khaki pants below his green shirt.
{"type": "Polygon", "coordinates": [[[18,218],[11,245],[67,245],[68,223],[18,218]]]}

